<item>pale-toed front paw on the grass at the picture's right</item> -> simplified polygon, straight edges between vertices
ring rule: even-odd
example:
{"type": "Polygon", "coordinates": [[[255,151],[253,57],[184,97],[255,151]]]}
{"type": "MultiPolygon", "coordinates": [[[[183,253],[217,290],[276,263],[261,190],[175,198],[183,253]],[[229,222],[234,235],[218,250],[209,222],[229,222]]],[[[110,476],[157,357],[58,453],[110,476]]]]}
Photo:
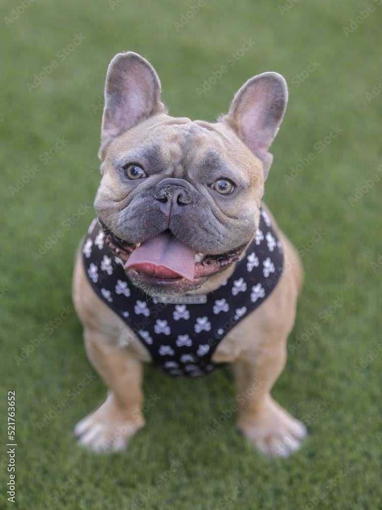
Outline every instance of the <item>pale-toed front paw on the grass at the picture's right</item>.
{"type": "Polygon", "coordinates": [[[258,450],[270,457],[288,457],[300,448],[307,435],[307,427],[271,397],[256,415],[242,413],[237,427],[258,450]]]}

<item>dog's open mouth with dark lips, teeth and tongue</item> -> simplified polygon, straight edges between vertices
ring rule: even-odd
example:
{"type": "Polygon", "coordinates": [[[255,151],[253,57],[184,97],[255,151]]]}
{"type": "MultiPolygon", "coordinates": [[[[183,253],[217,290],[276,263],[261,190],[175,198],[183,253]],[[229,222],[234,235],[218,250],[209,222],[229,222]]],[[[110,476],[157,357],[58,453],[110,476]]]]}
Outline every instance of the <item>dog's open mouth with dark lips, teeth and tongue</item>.
{"type": "Polygon", "coordinates": [[[138,285],[159,285],[199,287],[205,278],[218,273],[240,259],[246,245],[222,254],[203,254],[186,246],[169,230],[132,244],[115,236],[104,228],[105,242],[124,262],[123,269],[129,270],[133,283],[138,285]]]}

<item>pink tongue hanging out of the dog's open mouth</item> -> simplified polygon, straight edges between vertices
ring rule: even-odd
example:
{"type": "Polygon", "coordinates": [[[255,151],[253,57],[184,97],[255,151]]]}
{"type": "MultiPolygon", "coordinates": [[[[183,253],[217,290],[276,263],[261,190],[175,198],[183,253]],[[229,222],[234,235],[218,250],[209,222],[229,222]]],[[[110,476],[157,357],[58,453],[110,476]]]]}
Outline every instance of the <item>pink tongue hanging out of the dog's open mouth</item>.
{"type": "Polygon", "coordinates": [[[195,251],[170,234],[151,237],[135,248],[123,269],[133,267],[145,273],[171,278],[183,276],[194,279],[195,251]]]}

